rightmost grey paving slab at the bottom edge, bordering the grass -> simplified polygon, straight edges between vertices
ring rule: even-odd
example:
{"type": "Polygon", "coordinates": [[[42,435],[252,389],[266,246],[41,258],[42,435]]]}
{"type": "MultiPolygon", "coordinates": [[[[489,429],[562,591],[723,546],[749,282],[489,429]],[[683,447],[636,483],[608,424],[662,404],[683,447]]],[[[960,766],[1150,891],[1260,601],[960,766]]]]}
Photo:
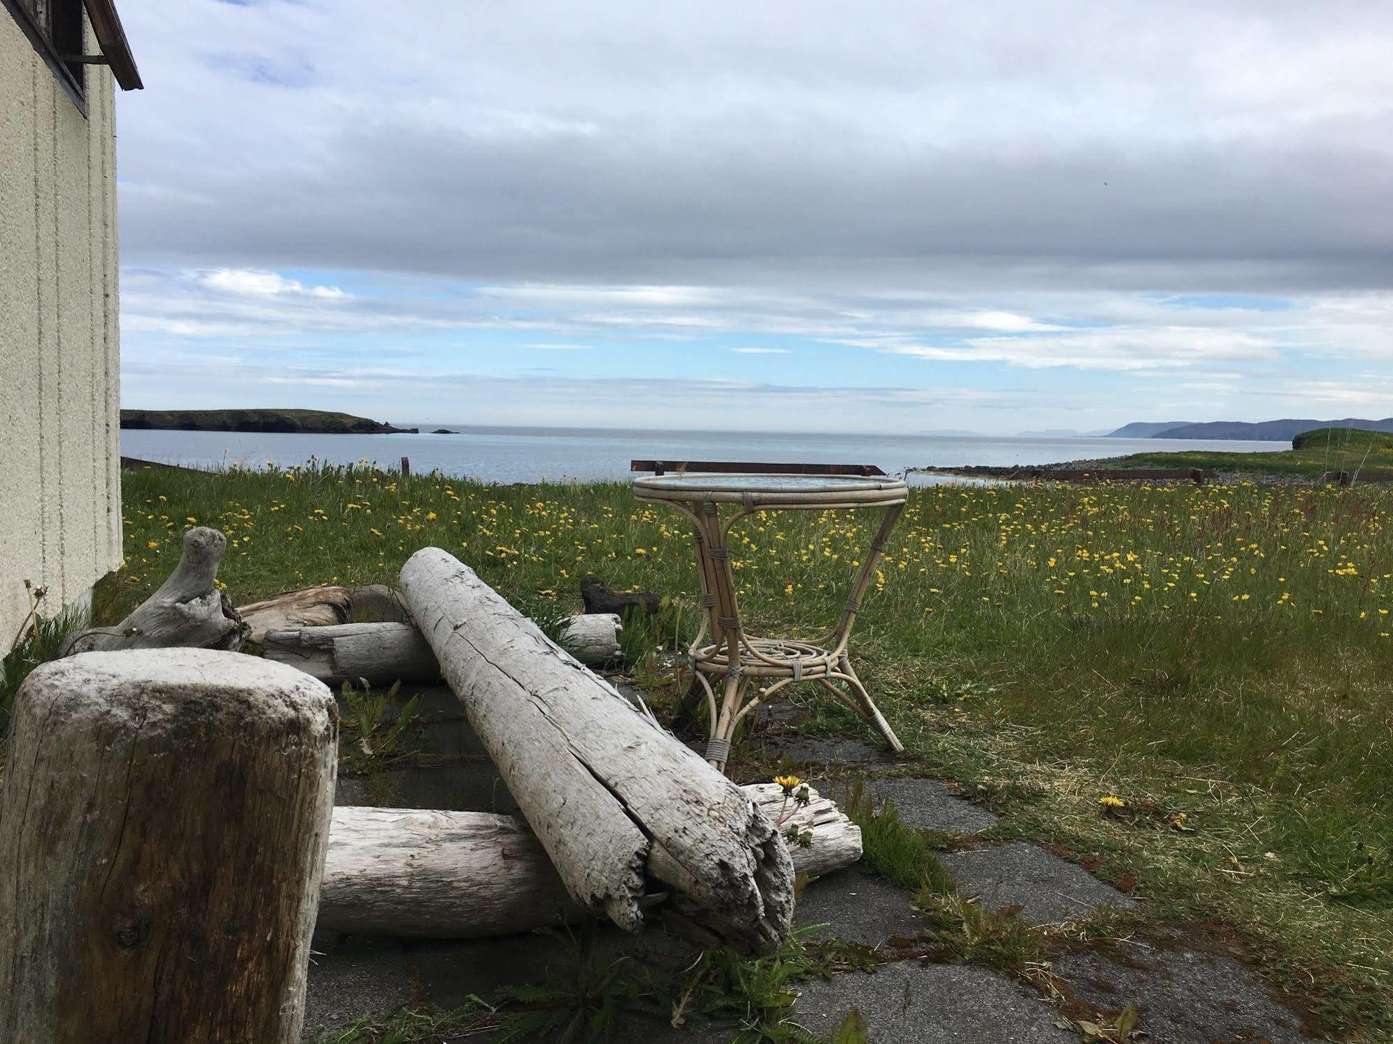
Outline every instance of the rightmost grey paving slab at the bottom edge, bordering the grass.
{"type": "Polygon", "coordinates": [[[1124,942],[1112,954],[1068,954],[1055,972],[1099,1013],[1133,1005],[1138,1029],[1166,1044],[1312,1040],[1263,979],[1233,958],[1124,942]]]}

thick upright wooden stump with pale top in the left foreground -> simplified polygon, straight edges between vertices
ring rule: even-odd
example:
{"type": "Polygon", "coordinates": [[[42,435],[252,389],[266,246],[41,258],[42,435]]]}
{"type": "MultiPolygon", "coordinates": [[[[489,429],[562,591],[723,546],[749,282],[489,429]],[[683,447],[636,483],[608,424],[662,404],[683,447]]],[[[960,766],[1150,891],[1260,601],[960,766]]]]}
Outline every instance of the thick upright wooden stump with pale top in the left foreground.
{"type": "Polygon", "coordinates": [[[35,670],[0,788],[0,1040],[298,1044],[336,748],[330,692],[249,656],[35,670]]]}

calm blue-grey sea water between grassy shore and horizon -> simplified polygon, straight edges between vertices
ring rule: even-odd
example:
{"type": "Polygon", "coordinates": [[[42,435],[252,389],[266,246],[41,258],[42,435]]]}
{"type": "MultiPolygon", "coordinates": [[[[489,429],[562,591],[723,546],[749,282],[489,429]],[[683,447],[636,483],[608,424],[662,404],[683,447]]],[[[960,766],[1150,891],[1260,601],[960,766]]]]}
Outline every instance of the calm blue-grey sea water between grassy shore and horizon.
{"type": "MultiPolygon", "coordinates": [[[[556,427],[450,427],[458,434],[241,434],[235,432],[121,432],[121,452],[194,468],[265,468],[368,459],[414,472],[439,469],[485,482],[628,479],[634,458],[677,461],[773,461],[876,464],[890,475],[905,468],[970,464],[1055,464],[1144,450],[1284,450],[1287,443],[1160,438],[986,438],[978,436],[787,434],[759,432],[642,432],[556,427]]],[[[910,476],[929,483],[932,476],[910,476]]]]}

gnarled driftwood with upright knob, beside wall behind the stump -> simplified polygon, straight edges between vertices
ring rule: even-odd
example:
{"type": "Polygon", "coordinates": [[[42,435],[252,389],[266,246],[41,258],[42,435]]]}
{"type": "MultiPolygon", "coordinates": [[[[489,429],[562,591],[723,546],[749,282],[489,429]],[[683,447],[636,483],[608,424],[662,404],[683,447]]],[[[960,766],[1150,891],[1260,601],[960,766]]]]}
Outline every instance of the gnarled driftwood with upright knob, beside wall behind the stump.
{"type": "Polygon", "coordinates": [[[195,526],[184,533],[184,554],[160,589],[114,628],[70,635],[60,656],[118,649],[242,647],[249,628],[227,596],[213,586],[227,537],[195,526]]]}

